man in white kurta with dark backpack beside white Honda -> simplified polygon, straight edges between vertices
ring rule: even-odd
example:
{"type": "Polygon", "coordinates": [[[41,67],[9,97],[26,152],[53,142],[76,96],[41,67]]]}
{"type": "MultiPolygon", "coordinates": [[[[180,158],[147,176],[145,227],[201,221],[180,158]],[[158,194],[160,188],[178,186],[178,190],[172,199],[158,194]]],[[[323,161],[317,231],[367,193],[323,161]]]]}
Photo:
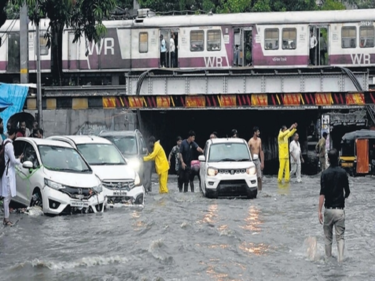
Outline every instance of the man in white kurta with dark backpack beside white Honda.
{"type": "Polygon", "coordinates": [[[17,159],[14,155],[13,140],[16,137],[16,129],[11,128],[9,130],[9,136],[4,141],[4,158],[5,158],[5,170],[1,178],[1,195],[4,197],[4,225],[12,225],[9,220],[9,203],[12,197],[16,196],[16,171],[15,166],[20,164],[23,154],[17,159]]]}

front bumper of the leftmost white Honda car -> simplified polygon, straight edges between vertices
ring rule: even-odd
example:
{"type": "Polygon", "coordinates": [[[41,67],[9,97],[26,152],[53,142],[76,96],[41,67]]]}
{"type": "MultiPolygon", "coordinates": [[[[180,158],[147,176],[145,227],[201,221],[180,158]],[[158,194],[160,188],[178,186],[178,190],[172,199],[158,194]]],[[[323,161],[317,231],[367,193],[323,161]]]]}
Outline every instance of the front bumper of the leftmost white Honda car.
{"type": "Polygon", "coordinates": [[[93,194],[88,199],[77,199],[45,186],[42,197],[43,213],[50,215],[103,212],[104,206],[107,205],[103,192],[93,194]]]}

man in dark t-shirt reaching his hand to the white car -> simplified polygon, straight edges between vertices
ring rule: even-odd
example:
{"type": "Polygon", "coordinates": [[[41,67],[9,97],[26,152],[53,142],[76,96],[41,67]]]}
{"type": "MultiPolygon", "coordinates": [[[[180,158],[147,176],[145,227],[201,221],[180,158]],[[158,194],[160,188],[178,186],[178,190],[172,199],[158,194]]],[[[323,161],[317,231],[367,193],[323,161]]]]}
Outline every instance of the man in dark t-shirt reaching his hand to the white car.
{"type": "MultiPolygon", "coordinates": [[[[189,178],[191,172],[191,160],[192,160],[192,149],[203,153],[203,149],[200,148],[195,142],[195,132],[190,131],[189,137],[184,139],[180,145],[180,180],[184,185],[184,192],[187,192],[189,186],[189,178]]],[[[182,184],[179,186],[180,192],[182,192],[182,184]]]]}

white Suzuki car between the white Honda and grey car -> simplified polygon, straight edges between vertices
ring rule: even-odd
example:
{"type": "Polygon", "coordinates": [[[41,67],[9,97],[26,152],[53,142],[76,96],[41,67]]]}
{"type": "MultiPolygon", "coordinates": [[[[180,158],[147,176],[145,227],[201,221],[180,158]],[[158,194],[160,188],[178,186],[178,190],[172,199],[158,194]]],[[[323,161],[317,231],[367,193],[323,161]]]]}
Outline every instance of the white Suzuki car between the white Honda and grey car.
{"type": "Polygon", "coordinates": [[[89,162],[102,181],[108,205],[115,203],[143,205],[145,190],[135,170],[127,163],[118,148],[97,136],[51,136],[76,148],[89,162]]]}

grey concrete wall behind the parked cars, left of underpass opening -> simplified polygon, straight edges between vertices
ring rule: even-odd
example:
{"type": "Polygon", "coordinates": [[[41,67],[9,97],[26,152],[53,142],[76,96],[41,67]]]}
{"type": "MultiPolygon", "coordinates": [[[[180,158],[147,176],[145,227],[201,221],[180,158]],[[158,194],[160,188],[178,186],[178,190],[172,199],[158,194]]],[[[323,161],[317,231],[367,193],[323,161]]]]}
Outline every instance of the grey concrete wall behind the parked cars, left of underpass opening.
{"type": "MultiPolygon", "coordinates": [[[[36,111],[28,110],[35,116],[36,111]]],[[[45,109],[43,130],[51,135],[98,135],[102,130],[134,130],[136,114],[121,109],[45,109]]]]}

